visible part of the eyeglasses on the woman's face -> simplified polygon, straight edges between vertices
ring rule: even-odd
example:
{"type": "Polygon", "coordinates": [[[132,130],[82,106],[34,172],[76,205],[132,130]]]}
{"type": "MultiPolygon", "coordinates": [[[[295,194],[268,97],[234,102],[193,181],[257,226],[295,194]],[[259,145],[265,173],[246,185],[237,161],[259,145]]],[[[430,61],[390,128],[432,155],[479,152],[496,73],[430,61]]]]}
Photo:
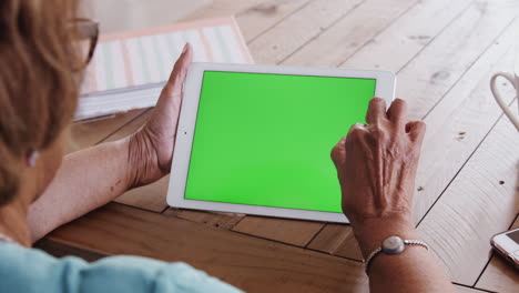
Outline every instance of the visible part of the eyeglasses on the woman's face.
{"type": "Polygon", "coordinates": [[[81,46],[81,50],[84,54],[82,67],[84,68],[92,60],[95,47],[98,46],[99,22],[90,19],[78,18],[72,21],[71,26],[77,30],[77,36],[82,44],[83,41],[88,41],[86,46],[81,46]]]}

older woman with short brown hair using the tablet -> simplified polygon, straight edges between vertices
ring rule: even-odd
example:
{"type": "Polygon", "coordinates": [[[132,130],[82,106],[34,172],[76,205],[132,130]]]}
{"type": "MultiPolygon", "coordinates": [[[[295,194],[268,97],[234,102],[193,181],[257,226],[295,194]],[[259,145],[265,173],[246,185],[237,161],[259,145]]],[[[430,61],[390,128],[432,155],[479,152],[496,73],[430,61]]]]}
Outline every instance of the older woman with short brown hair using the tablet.
{"type": "MultiPolygon", "coordinates": [[[[70,24],[74,13],[71,0],[0,2],[0,291],[240,292],[183,263],[133,256],[86,263],[31,249],[61,224],[170,172],[193,54],[186,46],[139,132],[62,158],[85,63],[70,24]]],[[[389,238],[419,240],[410,204],[424,123],[406,121],[404,101],[386,112],[380,99],[372,101],[367,122],[354,125],[332,156],[344,212],[369,259],[372,291],[452,291],[426,245],[397,247],[389,238]]]]}

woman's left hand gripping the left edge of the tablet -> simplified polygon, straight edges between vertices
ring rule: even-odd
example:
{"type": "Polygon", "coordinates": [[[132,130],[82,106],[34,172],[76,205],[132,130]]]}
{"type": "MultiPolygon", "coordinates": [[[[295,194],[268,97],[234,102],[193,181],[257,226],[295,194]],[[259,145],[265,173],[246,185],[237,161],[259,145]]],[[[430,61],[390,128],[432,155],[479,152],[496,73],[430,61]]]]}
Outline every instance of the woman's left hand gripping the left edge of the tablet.
{"type": "Polygon", "coordinates": [[[129,186],[155,182],[170,173],[176,137],[183,84],[193,59],[187,43],[144,127],[129,138],[129,186]]]}

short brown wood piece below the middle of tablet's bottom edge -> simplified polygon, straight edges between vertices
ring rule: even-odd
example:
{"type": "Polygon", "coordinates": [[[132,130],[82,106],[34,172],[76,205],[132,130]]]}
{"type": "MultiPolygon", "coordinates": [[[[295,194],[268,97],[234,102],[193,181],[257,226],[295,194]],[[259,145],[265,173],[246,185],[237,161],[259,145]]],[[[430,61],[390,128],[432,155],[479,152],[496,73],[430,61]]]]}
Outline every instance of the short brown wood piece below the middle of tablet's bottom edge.
{"type": "Polygon", "coordinates": [[[233,231],[304,247],[323,225],[322,222],[247,215],[233,231]]]}

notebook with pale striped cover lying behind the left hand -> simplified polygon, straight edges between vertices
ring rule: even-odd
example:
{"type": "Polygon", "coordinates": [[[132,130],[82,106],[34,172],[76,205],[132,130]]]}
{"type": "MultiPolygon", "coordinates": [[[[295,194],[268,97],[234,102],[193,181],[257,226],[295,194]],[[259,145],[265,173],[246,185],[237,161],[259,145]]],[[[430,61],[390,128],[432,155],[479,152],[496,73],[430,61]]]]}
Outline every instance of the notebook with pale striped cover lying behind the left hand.
{"type": "Polygon", "coordinates": [[[253,63],[234,18],[102,36],[75,120],[155,105],[186,42],[193,46],[194,62],[253,63]]]}

